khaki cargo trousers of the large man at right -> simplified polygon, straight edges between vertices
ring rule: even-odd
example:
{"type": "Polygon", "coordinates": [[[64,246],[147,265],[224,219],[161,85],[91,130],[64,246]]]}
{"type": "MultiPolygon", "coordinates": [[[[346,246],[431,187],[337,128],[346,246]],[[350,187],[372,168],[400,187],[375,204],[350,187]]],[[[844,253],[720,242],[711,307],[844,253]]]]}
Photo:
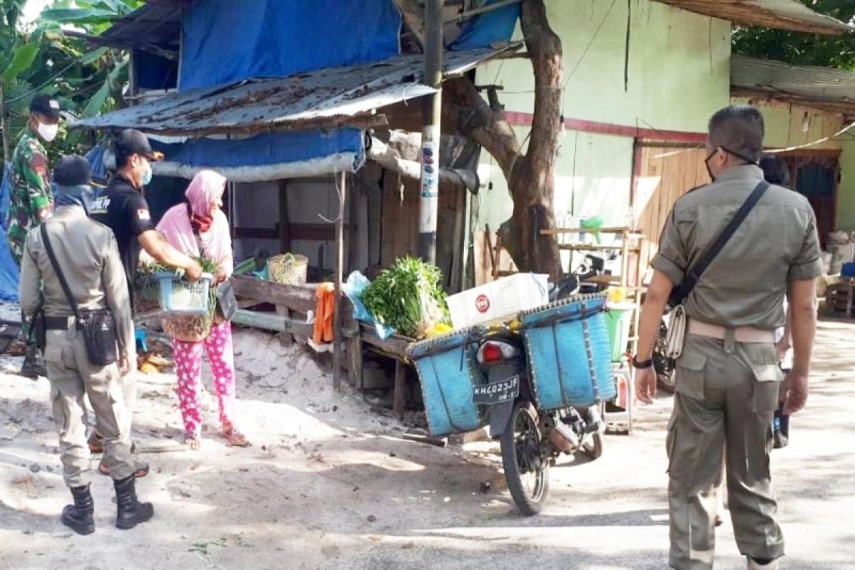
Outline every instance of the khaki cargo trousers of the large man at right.
{"type": "Polygon", "coordinates": [[[782,379],[775,346],[688,335],[676,373],[667,438],[670,566],[713,567],[722,450],[740,552],[758,559],[782,556],[769,473],[782,379]]]}

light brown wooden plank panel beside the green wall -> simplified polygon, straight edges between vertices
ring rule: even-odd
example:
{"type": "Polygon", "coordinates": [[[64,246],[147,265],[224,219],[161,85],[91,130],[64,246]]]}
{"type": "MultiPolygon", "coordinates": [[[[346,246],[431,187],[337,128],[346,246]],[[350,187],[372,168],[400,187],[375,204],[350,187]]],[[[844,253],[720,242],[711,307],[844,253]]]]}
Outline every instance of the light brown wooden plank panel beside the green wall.
{"type": "Polygon", "coordinates": [[[656,255],[659,236],[665,222],[674,208],[677,198],[696,186],[710,182],[704,159],[705,149],[668,146],[662,143],[655,146],[649,143],[640,145],[636,160],[635,187],[656,180],[656,187],[650,201],[642,209],[637,226],[646,236],[645,250],[641,253],[643,267],[648,267],[656,255]]]}

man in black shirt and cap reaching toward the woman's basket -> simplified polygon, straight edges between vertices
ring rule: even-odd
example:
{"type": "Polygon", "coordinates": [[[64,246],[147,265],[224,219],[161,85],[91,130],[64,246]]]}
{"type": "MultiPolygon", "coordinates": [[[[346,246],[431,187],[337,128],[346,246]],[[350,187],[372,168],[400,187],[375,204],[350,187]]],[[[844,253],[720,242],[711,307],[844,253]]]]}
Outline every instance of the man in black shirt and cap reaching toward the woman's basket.
{"type": "MultiPolygon", "coordinates": [[[[115,177],[110,181],[106,195],[97,199],[91,207],[92,218],[108,226],[115,234],[132,306],[133,283],[137,278],[141,250],[145,250],[162,265],[184,269],[188,279],[196,281],[202,276],[202,266],[198,261],[172,247],[163,234],[156,230],[155,220],[151,218],[149,204],[142,191],[151,182],[151,163],[158,158],[142,132],[133,129],[120,132],[115,140],[115,177]]],[[[122,379],[122,392],[129,415],[133,415],[137,401],[135,374],[128,374],[122,379]]],[[[100,436],[100,432],[92,432],[90,449],[93,453],[103,451],[100,436]]],[[[144,465],[140,467],[140,475],[148,472],[144,465]]],[[[108,474],[109,468],[102,463],[99,471],[108,474]]]]}

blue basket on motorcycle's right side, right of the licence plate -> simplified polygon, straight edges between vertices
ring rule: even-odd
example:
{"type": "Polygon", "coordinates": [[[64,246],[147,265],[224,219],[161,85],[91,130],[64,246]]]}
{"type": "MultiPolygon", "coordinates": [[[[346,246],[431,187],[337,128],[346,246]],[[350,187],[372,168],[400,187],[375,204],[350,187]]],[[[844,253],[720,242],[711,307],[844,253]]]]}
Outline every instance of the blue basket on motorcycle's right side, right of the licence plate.
{"type": "Polygon", "coordinates": [[[520,315],[534,401],[541,409],[616,397],[605,295],[572,297],[520,315]]]}

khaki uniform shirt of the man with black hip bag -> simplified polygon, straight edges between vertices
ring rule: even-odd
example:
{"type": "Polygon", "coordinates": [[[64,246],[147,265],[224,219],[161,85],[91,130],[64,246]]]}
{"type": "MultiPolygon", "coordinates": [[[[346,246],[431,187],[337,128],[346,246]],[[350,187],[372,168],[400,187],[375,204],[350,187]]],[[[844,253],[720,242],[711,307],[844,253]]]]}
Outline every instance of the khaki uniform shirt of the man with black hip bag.
{"type": "MultiPolygon", "coordinates": [[[[136,347],[131,303],[113,232],[89,219],[80,206],[57,208],[45,226],[78,308],[81,311],[110,309],[115,319],[120,354],[133,356],[136,347]]],[[[72,316],[37,228],[27,234],[21,260],[21,309],[27,314],[34,313],[43,296],[45,314],[72,316]]]]}

